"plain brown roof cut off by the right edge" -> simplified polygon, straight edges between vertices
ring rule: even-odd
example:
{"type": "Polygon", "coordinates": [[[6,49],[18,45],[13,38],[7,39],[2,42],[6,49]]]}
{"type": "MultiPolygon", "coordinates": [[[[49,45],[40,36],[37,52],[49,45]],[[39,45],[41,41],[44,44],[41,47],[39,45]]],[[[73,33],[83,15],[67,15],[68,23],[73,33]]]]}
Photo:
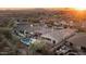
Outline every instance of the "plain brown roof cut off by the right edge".
{"type": "Polygon", "coordinates": [[[81,47],[86,48],[86,33],[78,33],[75,36],[69,38],[67,41],[79,49],[81,47]]]}

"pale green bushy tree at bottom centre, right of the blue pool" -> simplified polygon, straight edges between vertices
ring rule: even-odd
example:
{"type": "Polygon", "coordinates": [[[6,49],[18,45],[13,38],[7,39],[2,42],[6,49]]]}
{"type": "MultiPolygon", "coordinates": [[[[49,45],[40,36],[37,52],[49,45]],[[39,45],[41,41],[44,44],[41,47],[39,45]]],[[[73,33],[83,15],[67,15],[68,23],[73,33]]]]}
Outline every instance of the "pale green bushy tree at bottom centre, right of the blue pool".
{"type": "Polygon", "coordinates": [[[36,52],[41,54],[49,54],[49,46],[46,41],[37,40],[34,43],[29,44],[29,50],[33,51],[33,54],[36,52]]]}

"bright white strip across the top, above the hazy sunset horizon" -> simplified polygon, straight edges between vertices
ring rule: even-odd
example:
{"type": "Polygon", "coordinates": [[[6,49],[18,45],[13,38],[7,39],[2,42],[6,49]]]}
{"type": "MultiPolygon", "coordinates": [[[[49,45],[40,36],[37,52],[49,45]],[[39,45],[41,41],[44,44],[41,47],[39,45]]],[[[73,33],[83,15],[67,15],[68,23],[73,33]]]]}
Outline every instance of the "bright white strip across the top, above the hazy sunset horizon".
{"type": "Polygon", "coordinates": [[[0,0],[0,8],[86,8],[86,0],[0,0]]]}

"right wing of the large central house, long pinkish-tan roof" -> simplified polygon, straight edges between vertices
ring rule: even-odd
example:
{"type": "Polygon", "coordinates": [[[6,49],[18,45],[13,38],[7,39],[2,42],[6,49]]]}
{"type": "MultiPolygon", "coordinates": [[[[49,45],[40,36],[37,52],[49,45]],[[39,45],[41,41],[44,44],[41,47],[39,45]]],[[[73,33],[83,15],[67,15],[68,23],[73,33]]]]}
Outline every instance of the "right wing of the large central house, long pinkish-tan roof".
{"type": "Polygon", "coordinates": [[[41,35],[41,38],[50,40],[51,42],[59,43],[64,39],[70,38],[72,35],[75,34],[75,29],[62,29],[62,30],[53,30],[47,34],[41,35]]]}

